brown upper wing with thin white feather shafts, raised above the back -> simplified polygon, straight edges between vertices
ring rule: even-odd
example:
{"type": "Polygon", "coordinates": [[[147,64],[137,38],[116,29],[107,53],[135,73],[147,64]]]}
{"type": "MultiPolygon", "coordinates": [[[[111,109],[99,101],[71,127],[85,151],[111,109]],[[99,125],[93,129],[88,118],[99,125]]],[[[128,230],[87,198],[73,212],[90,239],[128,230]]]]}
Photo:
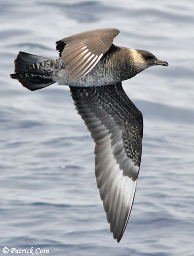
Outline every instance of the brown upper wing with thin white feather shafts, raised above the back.
{"type": "Polygon", "coordinates": [[[59,50],[71,80],[78,81],[87,75],[118,34],[119,30],[115,28],[96,29],[56,42],[56,49],[59,50]]]}

